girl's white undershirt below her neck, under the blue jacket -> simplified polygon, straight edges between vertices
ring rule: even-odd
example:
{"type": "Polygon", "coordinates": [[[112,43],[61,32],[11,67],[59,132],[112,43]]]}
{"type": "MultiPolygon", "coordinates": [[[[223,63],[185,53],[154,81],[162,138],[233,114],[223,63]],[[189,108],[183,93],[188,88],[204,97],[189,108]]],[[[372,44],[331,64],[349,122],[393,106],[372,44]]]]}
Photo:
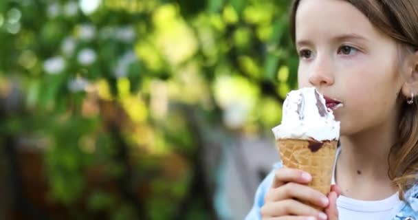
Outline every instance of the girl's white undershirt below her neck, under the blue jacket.
{"type": "MultiPolygon", "coordinates": [[[[340,155],[338,148],[336,162],[340,155]]],[[[336,184],[336,162],[334,162],[332,184],[336,184]]],[[[338,220],[391,220],[397,212],[396,207],[401,204],[396,192],[391,197],[377,201],[351,199],[340,195],[337,199],[338,220]]]]}

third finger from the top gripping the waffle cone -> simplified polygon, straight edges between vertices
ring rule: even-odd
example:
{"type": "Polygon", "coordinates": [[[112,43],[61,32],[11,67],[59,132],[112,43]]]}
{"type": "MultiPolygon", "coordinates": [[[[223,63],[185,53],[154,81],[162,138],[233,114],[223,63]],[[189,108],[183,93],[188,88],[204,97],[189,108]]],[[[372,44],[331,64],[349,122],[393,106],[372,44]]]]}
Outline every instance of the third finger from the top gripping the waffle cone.
{"type": "Polygon", "coordinates": [[[321,220],[327,219],[327,214],[324,212],[320,212],[294,199],[266,203],[261,208],[261,216],[263,217],[282,217],[287,215],[311,216],[321,220]]]}

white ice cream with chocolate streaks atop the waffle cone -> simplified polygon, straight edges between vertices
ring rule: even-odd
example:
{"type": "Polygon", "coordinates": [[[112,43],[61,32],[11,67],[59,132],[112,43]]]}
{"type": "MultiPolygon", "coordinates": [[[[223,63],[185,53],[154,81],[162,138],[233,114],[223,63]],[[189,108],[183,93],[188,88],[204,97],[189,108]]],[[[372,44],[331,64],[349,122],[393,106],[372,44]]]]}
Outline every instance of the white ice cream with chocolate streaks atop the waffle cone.
{"type": "Polygon", "coordinates": [[[324,96],[314,87],[290,91],[283,103],[282,122],[272,129],[276,140],[298,139],[318,142],[338,140],[340,122],[327,108],[324,96]]]}

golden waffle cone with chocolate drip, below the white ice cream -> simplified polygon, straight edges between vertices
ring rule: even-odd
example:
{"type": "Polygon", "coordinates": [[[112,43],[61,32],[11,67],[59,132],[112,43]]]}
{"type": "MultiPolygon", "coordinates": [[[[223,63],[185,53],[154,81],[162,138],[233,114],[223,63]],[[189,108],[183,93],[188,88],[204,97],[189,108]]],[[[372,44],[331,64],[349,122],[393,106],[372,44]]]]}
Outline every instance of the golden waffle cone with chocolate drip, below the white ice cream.
{"type": "Polygon", "coordinates": [[[331,190],[338,141],[322,142],[322,147],[315,152],[309,148],[309,140],[281,139],[277,142],[283,166],[310,173],[312,181],[308,186],[327,195],[331,190]]]}

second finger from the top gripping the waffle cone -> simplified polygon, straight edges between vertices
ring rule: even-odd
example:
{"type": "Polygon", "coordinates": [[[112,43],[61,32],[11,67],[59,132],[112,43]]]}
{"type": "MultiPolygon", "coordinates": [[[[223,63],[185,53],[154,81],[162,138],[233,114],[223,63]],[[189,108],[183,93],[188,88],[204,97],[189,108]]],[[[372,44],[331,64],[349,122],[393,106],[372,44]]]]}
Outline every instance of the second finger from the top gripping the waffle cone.
{"type": "Polygon", "coordinates": [[[293,182],[272,189],[265,196],[265,203],[293,198],[324,208],[329,204],[329,199],[318,190],[293,182]]]}

